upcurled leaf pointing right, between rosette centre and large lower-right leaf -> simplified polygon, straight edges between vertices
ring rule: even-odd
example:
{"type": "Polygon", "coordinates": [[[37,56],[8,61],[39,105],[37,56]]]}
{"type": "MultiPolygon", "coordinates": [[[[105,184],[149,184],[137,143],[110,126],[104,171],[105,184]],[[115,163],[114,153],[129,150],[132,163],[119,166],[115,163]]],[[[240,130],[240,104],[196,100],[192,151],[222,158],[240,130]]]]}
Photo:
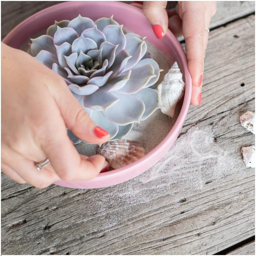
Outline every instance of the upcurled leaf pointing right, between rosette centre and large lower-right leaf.
{"type": "Polygon", "coordinates": [[[104,86],[99,88],[99,92],[115,92],[124,87],[124,85],[129,80],[129,77],[132,73],[132,70],[125,72],[124,74],[121,73],[120,75],[109,79],[104,86]]]}

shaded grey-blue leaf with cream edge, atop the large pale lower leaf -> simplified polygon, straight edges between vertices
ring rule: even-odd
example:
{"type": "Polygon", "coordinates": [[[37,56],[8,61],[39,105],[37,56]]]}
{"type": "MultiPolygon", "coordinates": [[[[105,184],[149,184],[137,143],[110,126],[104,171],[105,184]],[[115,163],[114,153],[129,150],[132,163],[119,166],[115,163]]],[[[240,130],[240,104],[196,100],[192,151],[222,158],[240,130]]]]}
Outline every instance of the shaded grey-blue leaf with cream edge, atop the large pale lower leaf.
{"type": "Polygon", "coordinates": [[[115,105],[119,99],[111,92],[94,92],[84,96],[84,106],[95,110],[107,110],[115,105]]]}

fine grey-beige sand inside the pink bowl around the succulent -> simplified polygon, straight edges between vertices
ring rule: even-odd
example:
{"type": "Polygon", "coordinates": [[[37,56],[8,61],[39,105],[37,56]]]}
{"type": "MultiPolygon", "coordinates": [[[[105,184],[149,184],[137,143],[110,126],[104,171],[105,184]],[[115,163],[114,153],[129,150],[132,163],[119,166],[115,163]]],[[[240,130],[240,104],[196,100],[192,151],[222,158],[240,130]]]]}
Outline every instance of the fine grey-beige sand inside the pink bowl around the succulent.
{"type": "MultiPolygon", "coordinates": [[[[128,31],[127,32],[132,32],[128,31]]],[[[39,31],[35,35],[31,36],[31,38],[36,38],[38,36],[46,34],[46,29],[39,31]]],[[[155,60],[159,67],[163,69],[160,73],[160,77],[156,83],[158,85],[163,81],[164,75],[168,72],[171,68],[172,64],[176,60],[168,59],[164,53],[158,50],[153,44],[145,40],[148,46],[147,52],[150,53],[153,60],[155,60]]],[[[25,42],[21,47],[20,50],[25,52],[28,51],[28,44],[31,43],[30,40],[25,42]]],[[[181,68],[181,67],[180,67],[181,68]]],[[[181,68],[182,70],[182,68],[181,68]]],[[[184,77],[183,80],[185,81],[184,77]]],[[[183,99],[176,106],[175,115],[172,119],[170,119],[167,115],[164,115],[160,109],[157,109],[151,116],[149,116],[146,120],[141,121],[140,123],[134,123],[133,128],[130,133],[128,133],[124,140],[131,140],[141,144],[145,148],[145,153],[149,153],[153,150],[170,132],[174,123],[176,122],[181,107],[182,107],[183,99]]],[[[92,156],[97,154],[97,149],[99,145],[97,144],[77,144],[75,145],[79,154],[85,156],[92,156]]]]}

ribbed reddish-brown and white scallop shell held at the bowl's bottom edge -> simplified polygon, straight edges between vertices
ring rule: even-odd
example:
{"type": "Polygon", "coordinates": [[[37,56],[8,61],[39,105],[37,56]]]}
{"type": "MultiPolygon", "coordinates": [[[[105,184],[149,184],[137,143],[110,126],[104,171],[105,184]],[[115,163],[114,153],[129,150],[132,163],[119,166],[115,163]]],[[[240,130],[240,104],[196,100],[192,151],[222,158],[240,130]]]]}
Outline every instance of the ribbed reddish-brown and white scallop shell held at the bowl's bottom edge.
{"type": "Polygon", "coordinates": [[[97,153],[104,156],[112,168],[117,169],[145,156],[145,149],[136,142],[114,140],[102,144],[97,153]]]}

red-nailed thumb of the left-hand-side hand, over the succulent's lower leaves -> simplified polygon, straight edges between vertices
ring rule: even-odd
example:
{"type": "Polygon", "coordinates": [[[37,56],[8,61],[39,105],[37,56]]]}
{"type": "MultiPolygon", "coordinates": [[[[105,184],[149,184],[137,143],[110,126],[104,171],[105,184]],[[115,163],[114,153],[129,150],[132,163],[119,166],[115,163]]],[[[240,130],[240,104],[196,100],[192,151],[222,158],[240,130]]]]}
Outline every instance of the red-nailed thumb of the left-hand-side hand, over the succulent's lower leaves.
{"type": "Polygon", "coordinates": [[[62,78],[52,93],[67,128],[78,138],[97,144],[108,141],[109,133],[92,121],[62,78]]]}

